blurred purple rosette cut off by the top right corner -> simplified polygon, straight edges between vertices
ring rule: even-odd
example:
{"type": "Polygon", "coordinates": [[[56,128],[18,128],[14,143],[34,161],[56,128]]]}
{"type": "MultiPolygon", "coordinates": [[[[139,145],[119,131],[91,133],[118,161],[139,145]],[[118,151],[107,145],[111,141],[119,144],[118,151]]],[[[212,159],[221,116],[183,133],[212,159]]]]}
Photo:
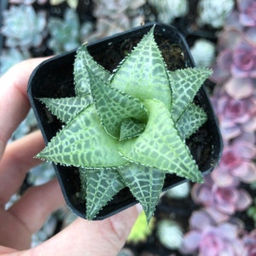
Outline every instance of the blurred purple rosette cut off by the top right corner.
{"type": "Polygon", "coordinates": [[[256,26],[255,0],[237,0],[239,20],[243,26],[256,26]]]}

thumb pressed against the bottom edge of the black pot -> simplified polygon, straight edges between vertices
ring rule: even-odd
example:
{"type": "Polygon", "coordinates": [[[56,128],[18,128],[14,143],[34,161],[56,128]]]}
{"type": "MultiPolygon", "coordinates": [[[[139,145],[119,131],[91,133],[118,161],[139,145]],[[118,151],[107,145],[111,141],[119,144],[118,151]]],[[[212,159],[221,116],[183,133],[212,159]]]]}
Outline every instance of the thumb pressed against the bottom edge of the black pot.
{"type": "Polygon", "coordinates": [[[115,256],[124,246],[138,213],[137,207],[130,207],[101,221],[78,218],[56,236],[32,248],[32,254],[115,256]]]}

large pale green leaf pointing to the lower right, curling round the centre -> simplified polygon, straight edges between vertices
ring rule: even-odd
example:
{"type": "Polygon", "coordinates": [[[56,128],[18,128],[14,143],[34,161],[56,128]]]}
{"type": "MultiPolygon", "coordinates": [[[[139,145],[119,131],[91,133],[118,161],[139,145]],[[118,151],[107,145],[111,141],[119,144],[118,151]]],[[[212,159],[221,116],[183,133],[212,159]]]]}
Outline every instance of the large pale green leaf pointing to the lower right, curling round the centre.
{"type": "Polygon", "coordinates": [[[201,182],[201,172],[169,111],[162,102],[148,100],[144,104],[149,112],[146,129],[139,137],[119,143],[121,154],[130,161],[201,182]]]}

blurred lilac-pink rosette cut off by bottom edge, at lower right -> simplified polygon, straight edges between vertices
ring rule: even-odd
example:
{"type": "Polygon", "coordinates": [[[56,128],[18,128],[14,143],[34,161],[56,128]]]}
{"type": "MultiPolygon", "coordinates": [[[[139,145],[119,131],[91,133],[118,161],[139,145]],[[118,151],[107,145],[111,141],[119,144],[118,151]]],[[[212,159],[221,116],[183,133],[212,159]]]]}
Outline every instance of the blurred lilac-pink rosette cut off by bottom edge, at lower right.
{"type": "Polygon", "coordinates": [[[239,238],[240,227],[228,222],[217,224],[206,211],[194,212],[190,218],[191,231],[183,237],[182,253],[200,256],[245,256],[247,250],[239,238]]]}

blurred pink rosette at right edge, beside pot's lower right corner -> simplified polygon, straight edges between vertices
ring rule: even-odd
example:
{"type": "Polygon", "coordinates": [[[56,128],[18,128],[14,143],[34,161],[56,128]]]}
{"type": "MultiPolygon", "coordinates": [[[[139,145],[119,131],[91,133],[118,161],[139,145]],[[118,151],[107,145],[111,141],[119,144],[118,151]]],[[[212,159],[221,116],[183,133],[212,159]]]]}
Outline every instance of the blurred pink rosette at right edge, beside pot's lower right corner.
{"type": "Polygon", "coordinates": [[[224,146],[222,158],[211,174],[219,187],[234,186],[237,183],[256,181],[255,137],[252,133],[243,134],[224,146]]]}

